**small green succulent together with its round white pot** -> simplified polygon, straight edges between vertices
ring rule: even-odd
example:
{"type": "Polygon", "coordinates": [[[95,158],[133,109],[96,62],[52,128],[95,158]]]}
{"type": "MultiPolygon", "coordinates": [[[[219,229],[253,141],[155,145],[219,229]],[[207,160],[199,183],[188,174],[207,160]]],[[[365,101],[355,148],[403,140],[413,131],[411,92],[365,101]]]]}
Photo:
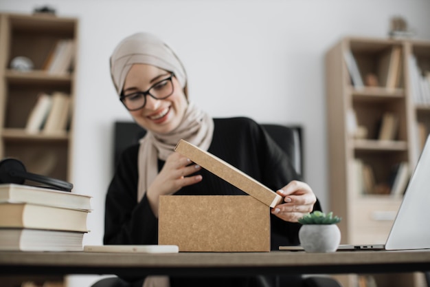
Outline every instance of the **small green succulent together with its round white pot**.
{"type": "Polygon", "coordinates": [[[299,219],[302,227],[299,240],[306,252],[335,252],[341,242],[341,231],[336,225],[340,217],[321,211],[308,213],[299,219]]]}

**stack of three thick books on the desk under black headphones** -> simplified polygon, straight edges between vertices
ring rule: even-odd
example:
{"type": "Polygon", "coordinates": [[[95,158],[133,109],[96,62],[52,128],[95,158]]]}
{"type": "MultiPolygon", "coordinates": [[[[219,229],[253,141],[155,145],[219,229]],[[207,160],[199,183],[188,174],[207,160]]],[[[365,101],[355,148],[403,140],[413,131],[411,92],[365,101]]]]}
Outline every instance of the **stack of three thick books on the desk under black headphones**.
{"type": "Polygon", "coordinates": [[[0,184],[0,251],[82,251],[91,197],[0,184]]]}

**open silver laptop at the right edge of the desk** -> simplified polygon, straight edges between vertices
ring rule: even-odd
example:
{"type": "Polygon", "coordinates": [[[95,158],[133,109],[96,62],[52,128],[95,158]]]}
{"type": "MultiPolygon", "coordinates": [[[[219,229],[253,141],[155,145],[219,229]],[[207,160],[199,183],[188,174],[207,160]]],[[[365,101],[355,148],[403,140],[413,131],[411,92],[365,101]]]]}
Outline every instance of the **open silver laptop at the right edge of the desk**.
{"type": "MultiPolygon", "coordinates": [[[[341,244],[338,251],[430,248],[430,135],[416,164],[385,244],[341,244]]],[[[300,251],[302,246],[280,246],[300,251]]]]}

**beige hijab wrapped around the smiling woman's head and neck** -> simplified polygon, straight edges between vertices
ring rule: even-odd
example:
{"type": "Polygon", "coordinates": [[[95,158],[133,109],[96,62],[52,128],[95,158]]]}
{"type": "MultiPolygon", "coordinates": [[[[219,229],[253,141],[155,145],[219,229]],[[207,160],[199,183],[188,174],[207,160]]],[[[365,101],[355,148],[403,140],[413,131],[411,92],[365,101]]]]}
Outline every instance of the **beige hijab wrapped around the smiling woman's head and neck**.
{"type": "MultiPolygon", "coordinates": [[[[188,97],[187,75],[181,61],[166,43],[148,33],[128,36],[113,51],[110,59],[111,77],[118,95],[122,92],[128,71],[136,63],[154,65],[168,72],[174,72],[174,76],[184,89],[185,96],[188,97]]],[[[212,118],[193,103],[188,105],[179,126],[168,134],[157,134],[148,130],[146,136],[140,140],[137,202],[142,200],[149,185],[158,174],[158,159],[166,160],[181,139],[207,150],[212,142],[213,132],[212,118]]],[[[149,276],[144,281],[144,287],[168,287],[169,285],[169,279],[165,276],[149,276]]]]}

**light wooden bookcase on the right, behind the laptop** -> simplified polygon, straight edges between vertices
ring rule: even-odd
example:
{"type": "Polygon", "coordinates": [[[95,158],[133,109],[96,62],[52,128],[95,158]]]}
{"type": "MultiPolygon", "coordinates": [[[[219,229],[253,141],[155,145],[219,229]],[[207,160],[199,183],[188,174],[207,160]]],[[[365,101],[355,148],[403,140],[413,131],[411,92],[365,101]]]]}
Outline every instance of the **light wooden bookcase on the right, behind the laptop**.
{"type": "MultiPolygon", "coordinates": [[[[346,37],[326,53],[330,210],[343,218],[341,243],[385,243],[401,203],[401,192],[392,195],[396,167],[407,162],[414,169],[430,131],[430,100],[413,94],[411,59],[417,74],[430,71],[430,42],[346,37]],[[383,127],[389,136],[381,137],[383,127]]],[[[418,274],[391,276],[399,285],[389,286],[420,281],[418,274]]],[[[379,276],[377,286],[387,286],[388,277],[379,276]]],[[[359,276],[341,281],[359,286],[359,276]]]]}

